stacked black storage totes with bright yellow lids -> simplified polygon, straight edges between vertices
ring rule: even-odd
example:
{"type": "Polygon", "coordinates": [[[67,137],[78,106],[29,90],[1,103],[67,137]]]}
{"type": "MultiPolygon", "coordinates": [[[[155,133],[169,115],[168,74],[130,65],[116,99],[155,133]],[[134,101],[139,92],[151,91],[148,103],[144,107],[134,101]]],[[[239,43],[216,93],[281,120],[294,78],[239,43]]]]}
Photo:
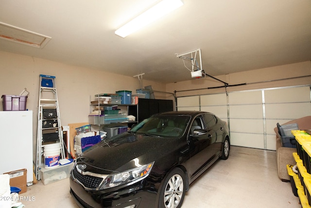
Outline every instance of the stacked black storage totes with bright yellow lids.
{"type": "Polygon", "coordinates": [[[303,208],[311,208],[311,135],[306,131],[292,130],[296,141],[297,152],[293,153],[297,173],[287,165],[292,189],[298,196],[303,208]]]}

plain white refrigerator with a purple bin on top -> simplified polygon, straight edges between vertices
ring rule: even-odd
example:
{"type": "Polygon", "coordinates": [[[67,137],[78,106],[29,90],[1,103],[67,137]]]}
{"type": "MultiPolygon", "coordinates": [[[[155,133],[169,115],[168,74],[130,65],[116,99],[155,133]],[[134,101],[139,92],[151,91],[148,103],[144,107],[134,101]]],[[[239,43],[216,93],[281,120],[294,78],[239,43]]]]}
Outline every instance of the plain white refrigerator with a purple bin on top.
{"type": "Polygon", "coordinates": [[[33,112],[0,111],[0,174],[27,169],[33,184],[33,112]]]}

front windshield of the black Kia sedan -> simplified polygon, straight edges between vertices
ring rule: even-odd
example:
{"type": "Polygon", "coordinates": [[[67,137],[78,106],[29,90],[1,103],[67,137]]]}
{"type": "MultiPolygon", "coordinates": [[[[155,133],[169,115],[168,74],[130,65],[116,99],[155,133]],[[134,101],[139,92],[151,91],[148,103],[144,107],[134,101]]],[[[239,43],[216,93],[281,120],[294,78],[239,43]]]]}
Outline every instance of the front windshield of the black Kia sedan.
{"type": "Polygon", "coordinates": [[[163,137],[180,137],[186,131],[188,115],[153,115],[132,128],[130,132],[163,137]]]}

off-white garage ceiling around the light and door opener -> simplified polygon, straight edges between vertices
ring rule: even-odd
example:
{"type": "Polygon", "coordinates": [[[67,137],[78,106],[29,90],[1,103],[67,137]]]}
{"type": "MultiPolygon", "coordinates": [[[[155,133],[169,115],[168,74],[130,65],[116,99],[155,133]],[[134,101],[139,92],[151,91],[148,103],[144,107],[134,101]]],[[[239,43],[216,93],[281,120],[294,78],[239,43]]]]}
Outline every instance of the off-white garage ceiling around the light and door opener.
{"type": "Polygon", "coordinates": [[[0,50],[163,83],[191,79],[175,54],[199,48],[210,76],[311,60],[311,0],[183,0],[126,38],[114,34],[156,2],[0,0],[0,22],[52,38],[42,49],[0,39],[0,50]]]}

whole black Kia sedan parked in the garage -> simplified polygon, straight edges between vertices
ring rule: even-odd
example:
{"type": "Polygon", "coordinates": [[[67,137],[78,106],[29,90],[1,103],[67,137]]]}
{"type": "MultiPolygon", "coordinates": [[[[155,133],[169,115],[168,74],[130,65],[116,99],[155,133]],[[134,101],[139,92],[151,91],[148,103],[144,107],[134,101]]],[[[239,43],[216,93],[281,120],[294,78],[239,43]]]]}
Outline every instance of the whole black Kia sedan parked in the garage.
{"type": "Polygon", "coordinates": [[[83,152],[70,193],[83,208],[180,208],[189,185],[229,150],[228,126],[212,113],[155,114],[83,152]]]}

